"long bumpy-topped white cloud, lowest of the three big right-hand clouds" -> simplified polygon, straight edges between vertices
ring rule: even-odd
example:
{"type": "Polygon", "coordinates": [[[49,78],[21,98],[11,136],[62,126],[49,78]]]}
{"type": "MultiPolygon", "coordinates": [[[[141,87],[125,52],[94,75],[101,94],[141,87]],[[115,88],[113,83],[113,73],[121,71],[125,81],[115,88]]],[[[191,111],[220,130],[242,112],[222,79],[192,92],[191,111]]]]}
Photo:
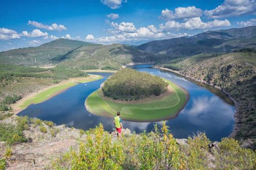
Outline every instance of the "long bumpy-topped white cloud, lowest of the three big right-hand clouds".
{"type": "Polygon", "coordinates": [[[200,17],[188,19],[184,23],[170,21],[164,24],[160,24],[159,28],[161,31],[170,31],[174,29],[209,29],[218,27],[228,27],[230,26],[229,20],[217,20],[214,19],[211,22],[204,23],[200,17]]]}

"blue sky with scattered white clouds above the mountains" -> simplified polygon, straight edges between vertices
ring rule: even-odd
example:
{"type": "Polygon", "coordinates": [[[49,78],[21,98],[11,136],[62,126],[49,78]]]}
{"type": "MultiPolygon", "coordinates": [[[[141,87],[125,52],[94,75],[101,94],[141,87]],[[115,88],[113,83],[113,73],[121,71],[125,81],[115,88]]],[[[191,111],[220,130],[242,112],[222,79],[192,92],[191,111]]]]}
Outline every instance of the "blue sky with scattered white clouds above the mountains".
{"type": "Polygon", "coordinates": [[[0,51],[58,39],[138,45],[256,25],[256,0],[1,0],[0,51]]]}

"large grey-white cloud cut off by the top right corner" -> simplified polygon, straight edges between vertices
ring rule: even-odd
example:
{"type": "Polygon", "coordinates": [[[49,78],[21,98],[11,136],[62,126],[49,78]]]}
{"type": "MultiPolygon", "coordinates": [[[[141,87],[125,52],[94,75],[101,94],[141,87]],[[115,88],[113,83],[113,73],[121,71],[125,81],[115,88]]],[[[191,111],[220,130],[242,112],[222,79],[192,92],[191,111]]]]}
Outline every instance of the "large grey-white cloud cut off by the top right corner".
{"type": "Polygon", "coordinates": [[[255,14],[255,0],[225,0],[222,5],[213,10],[206,10],[204,14],[209,18],[224,18],[230,16],[240,16],[243,14],[255,14]]]}

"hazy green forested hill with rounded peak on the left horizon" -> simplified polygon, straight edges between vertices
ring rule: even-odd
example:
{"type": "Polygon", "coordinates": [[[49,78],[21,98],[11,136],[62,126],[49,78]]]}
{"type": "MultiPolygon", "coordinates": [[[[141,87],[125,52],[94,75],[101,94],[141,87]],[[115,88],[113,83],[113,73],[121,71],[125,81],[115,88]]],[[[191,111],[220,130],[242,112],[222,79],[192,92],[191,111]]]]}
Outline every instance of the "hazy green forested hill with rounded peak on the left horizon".
{"type": "Polygon", "coordinates": [[[19,48],[0,53],[0,63],[38,66],[52,64],[52,58],[63,56],[82,45],[97,45],[84,41],[57,39],[36,47],[19,48]]]}

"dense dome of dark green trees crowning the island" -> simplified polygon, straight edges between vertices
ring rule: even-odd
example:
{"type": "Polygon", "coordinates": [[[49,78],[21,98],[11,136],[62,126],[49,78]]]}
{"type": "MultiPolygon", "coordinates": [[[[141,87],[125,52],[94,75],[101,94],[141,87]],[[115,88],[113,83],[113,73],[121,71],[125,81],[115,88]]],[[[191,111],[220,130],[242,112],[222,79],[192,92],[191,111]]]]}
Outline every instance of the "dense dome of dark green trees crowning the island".
{"type": "Polygon", "coordinates": [[[168,83],[159,76],[133,69],[122,69],[110,76],[102,91],[105,96],[119,100],[139,100],[167,91],[168,83]]]}

